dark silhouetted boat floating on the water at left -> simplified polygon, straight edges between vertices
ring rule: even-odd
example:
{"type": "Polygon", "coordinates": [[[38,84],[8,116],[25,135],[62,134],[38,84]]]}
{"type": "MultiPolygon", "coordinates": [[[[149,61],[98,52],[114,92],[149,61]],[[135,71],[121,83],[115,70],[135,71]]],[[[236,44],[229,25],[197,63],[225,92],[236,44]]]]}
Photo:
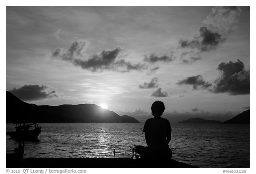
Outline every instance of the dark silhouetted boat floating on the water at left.
{"type": "Polygon", "coordinates": [[[9,135],[12,139],[28,140],[37,139],[41,132],[41,127],[36,123],[16,123],[16,131],[8,131],[6,135],[9,135]],[[30,129],[34,128],[34,129],[30,129]]]}

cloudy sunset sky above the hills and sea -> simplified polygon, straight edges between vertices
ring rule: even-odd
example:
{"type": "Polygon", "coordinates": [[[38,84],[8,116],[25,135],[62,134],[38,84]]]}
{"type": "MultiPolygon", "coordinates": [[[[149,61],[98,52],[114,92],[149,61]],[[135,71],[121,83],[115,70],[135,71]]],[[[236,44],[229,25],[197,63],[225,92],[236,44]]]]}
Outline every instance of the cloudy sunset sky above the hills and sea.
{"type": "Polygon", "coordinates": [[[250,108],[250,7],[7,6],[6,90],[118,114],[250,108]]]}

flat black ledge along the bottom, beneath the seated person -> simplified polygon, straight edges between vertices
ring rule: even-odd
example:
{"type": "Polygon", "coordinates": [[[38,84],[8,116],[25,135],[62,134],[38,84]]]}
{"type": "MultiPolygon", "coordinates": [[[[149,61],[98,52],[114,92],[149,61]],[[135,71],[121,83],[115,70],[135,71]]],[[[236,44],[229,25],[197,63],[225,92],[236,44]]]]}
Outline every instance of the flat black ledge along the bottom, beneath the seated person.
{"type": "Polygon", "coordinates": [[[199,168],[173,159],[6,158],[6,168],[199,168]]]}

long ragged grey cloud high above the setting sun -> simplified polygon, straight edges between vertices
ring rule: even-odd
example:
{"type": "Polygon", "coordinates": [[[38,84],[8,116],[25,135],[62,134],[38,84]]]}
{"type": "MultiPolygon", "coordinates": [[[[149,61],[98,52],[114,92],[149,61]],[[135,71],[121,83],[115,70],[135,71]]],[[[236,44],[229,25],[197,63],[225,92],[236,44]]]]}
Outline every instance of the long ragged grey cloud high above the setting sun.
{"type": "Polygon", "coordinates": [[[116,60],[123,51],[120,47],[113,50],[104,50],[99,54],[94,54],[90,58],[85,58],[86,42],[83,40],[75,41],[67,51],[57,48],[52,57],[59,57],[64,61],[72,62],[75,66],[92,72],[102,72],[103,70],[112,70],[117,72],[129,72],[130,70],[146,70],[145,64],[132,64],[124,59],[116,60]]]}

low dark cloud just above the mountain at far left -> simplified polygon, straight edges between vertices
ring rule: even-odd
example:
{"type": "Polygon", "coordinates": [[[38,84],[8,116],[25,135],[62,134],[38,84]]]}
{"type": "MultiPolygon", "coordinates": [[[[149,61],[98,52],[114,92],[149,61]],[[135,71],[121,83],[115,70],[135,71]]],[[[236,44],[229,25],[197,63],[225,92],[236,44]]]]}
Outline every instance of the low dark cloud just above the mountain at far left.
{"type": "Polygon", "coordinates": [[[49,91],[47,85],[24,85],[19,89],[14,88],[10,92],[22,101],[36,101],[58,97],[56,91],[49,91]]]}

